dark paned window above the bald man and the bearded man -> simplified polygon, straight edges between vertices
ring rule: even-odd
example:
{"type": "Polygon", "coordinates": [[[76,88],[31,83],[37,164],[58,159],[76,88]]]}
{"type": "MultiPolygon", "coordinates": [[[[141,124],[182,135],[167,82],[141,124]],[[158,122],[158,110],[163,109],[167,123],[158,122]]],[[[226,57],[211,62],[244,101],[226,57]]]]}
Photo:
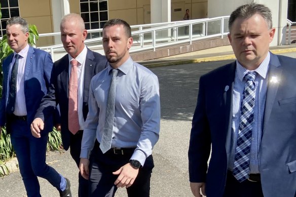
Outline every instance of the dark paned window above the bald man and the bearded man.
{"type": "MultiPolygon", "coordinates": [[[[103,28],[108,20],[107,0],[80,0],[80,15],[86,29],[103,28]]],[[[88,38],[100,37],[101,33],[88,33],[88,38]]]]}

